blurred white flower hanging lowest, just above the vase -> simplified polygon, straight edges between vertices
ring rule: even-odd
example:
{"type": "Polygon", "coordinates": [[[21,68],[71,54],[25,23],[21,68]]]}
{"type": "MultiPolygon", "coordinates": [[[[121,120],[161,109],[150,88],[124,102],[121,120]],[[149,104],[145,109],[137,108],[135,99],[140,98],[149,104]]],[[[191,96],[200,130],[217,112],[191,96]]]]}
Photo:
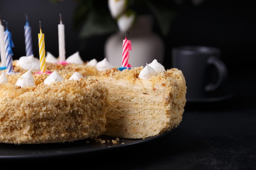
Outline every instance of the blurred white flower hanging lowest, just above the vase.
{"type": "Polygon", "coordinates": [[[135,13],[125,13],[117,19],[117,26],[121,32],[129,31],[135,21],[135,13]]]}

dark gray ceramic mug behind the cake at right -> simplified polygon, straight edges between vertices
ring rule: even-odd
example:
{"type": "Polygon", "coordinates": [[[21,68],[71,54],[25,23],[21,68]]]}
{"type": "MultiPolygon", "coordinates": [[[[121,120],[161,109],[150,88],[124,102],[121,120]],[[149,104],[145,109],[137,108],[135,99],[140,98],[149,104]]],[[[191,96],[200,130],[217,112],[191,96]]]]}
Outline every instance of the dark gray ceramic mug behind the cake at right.
{"type": "Polygon", "coordinates": [[[227,68],[220,60],[220,49],[211,46],[175,47],[172,67],[184,74],[188,102],[217,101],[226,97],[227,68]]]}

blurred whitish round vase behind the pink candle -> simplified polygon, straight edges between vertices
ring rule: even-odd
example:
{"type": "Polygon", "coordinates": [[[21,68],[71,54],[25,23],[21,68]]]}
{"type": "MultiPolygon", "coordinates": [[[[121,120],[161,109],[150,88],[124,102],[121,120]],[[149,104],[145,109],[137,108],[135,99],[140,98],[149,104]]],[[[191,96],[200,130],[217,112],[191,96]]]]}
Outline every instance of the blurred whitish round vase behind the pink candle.
{"type": "MultiPolygon", "coordinates": [[[[161,64],[164,62],[164,42],[162,38],[152,32],[153,18],[150,15],[139,15],[135,25],[129,30],[127,40],[131,41],[128,63],[132,67],[146,66],[154,59],[161,64]]],[[[122,66],[122,46],[125,39],[124,32],[117,32],[107,38],[104,54],[114,66],[122,66]]]]}

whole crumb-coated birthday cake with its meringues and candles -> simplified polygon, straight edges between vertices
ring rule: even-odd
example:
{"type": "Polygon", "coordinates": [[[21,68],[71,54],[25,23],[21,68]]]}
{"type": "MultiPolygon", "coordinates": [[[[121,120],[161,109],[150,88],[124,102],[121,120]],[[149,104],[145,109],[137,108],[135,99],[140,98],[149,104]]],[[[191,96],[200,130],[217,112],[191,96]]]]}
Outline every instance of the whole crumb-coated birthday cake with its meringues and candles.
{"type": "Polygon", "coordinates": [[[5,46],[6,59],[1,54],[6,62],[0,71],[0,143],[58,143],[100,135],[142,139],[180,124],[186,103],[186,82],[180,70],[165,70],[157,60],[132,68],[127,38],[120,68],[106,58],[84,62],[79,52],[65,58],[62,23],[58,26],[60,56],[49,52],[45,56],[39,27],[39,59],[27,41],[31,37],[27,22],[26,56],[13,61],[6,23],[5,44],[0,44],[5,46]]]}

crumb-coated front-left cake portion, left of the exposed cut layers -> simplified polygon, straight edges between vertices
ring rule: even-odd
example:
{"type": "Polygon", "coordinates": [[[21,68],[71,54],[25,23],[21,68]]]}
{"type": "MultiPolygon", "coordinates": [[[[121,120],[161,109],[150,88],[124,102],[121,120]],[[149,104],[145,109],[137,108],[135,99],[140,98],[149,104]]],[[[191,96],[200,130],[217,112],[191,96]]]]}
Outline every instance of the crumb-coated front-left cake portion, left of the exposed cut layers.
{"type": "Polygon", "coordinates": [[[1,73],[0,143],[42,144],[106,131],[107,89],[75,71],[1,73]]]}

